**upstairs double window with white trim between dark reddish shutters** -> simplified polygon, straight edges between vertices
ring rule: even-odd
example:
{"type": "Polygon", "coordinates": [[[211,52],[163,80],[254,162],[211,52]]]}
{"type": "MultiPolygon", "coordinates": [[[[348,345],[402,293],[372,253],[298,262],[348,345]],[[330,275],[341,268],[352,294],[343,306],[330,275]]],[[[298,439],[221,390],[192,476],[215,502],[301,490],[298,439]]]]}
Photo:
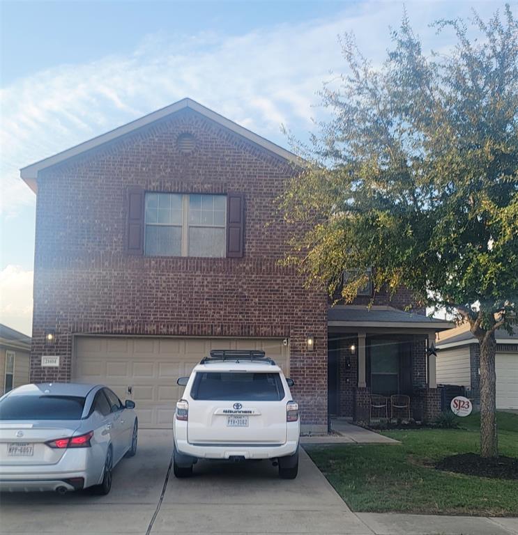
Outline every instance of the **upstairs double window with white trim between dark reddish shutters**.
{"type": "Polygon", "coordinates": [[[226,254],[227,196],[146,193],[146,256],[226,254]]]}

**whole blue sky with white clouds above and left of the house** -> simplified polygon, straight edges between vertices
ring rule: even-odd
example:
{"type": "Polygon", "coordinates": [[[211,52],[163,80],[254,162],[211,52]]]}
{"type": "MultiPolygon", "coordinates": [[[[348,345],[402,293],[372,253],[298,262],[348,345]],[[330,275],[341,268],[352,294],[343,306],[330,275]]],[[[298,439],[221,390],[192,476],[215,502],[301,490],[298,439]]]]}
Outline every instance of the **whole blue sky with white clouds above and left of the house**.
{"type": "MultiPolygon", "coordinates": [[[[500,2],[406,2],[425,50],[437,18],[500,2]]],[[[516,5],[516,3],[514,3],[516,5]]],[[[379,63],[402,2],[1,1],[0,321],[30,334],[35,162],[185,96],[282,146],[322,118],[316,92],[344,70],[337,35],[379,63]]]]}

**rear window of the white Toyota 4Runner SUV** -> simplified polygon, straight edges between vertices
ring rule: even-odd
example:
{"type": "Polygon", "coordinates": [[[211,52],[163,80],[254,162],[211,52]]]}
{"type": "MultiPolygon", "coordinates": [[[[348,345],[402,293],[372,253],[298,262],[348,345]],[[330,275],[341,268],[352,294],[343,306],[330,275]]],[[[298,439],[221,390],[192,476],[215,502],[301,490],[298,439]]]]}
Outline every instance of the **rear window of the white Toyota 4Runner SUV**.
{"type": "Polygon", "coordinates": [[[190,395],[213,401],[280,401],[284,388],[278,373],[204,371],[196,373],[190,395]]]}

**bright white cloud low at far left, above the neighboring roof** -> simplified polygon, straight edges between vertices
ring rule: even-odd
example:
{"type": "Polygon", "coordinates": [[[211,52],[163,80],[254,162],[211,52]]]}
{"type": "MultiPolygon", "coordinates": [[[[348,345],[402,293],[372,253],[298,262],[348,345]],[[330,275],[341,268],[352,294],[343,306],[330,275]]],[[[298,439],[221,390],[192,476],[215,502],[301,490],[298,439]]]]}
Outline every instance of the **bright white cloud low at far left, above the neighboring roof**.
{"type": "Polygon", "coordinates": [[[0,271],[0,322],[31,336],[33,272],[19,265],[0,271]]]}

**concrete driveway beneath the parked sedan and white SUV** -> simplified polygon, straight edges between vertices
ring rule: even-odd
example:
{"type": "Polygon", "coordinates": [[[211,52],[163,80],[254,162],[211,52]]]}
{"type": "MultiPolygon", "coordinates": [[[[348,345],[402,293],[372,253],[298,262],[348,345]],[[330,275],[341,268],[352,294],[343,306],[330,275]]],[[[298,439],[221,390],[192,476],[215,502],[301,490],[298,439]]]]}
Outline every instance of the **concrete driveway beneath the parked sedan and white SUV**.
{"type": "Polygon", "coordinates": [[[266,461],[198,463],[179,480],[167,479],[171,445],[168,431],[141,431],[137,456],[116,467],[107,497],[1,495],[0,533],[372,534],[303,450],[294,481],[266,461]]]}

